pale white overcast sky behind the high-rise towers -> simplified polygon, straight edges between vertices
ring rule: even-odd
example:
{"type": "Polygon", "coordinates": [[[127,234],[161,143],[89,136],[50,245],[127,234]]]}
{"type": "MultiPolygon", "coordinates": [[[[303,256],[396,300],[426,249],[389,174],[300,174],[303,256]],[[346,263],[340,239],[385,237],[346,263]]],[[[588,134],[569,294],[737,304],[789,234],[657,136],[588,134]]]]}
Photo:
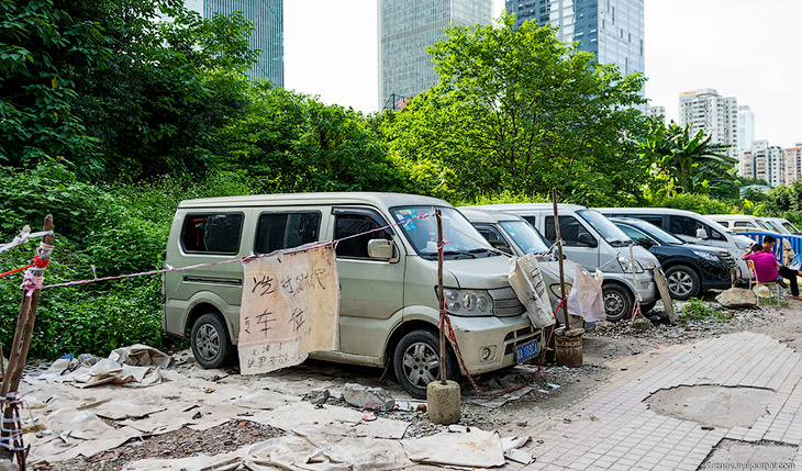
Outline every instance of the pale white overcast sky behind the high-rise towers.
{"type": "MultiPolygon", "coordinates": [[[[376,0],[285,1],[285,86],[378,108],[376,0]]],[[[802,142],[800,0],[645,0],[646,97],[677,120],[679,92],[713,88],[755,113],[755,138],[802,142]]],[[[503,1],[493,0],[498,15],[503,1]]]]}

